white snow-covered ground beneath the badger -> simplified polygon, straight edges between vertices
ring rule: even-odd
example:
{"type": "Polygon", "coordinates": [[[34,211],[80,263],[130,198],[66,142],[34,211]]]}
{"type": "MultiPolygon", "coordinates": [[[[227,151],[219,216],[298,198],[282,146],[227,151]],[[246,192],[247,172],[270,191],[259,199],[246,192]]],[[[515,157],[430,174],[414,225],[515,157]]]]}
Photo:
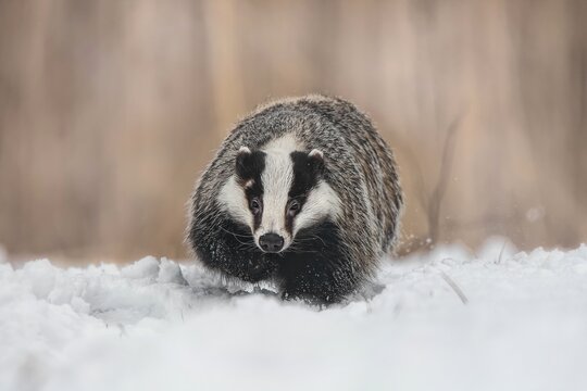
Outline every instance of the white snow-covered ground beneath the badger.
{"type": "Polygon", "coordinates": [[[586,245],[440,248],[326,310],[164,258],[0,261],[0,390],[587,390],[586,365],[586,245]]]}

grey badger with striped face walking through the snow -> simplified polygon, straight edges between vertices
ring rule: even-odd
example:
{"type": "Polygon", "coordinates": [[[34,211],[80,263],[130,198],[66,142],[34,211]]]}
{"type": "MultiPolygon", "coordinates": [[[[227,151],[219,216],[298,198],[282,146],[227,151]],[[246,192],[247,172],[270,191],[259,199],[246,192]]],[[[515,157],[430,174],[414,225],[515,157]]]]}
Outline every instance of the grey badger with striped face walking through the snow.
{"type": "Polygon", "coordinates": [[[272,281],[286,300],[336,303],[392,250],[403,195],[370,118],[342,99],[307,96],[241,119],[189,204],[186,241],[205,267],[272,281]]]}

